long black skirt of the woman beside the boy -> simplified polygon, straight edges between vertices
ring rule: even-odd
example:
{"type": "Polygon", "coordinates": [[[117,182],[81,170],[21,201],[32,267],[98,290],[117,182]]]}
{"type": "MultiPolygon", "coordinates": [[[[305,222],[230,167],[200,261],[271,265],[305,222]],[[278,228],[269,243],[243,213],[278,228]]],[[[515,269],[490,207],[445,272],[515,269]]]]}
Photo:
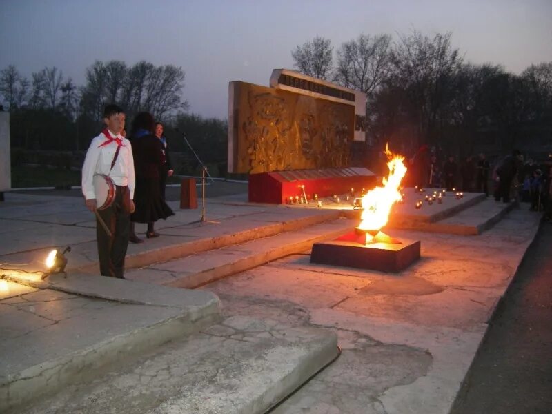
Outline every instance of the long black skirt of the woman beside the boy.
{"type": "Polygon", "coordinates": [[[158,178],[137,178],[134,191],[136,210],[130,215],[135,223],[150,223],[175,215],[161,196],[158,178]]]}

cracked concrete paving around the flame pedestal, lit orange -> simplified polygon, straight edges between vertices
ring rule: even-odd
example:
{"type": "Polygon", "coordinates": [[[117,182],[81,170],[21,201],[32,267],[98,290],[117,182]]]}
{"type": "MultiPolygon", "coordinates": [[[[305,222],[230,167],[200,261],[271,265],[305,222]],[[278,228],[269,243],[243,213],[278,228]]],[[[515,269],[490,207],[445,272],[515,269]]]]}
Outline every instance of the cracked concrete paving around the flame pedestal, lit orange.
{"type": "Polygon", "coordinates": [[[311,264],[306,253],[203,288],[226,317],[337,333],[341,357],[273,413],[448,413],[537,228],[514,210],[475,237],[393,230],[422,240],[422,259],[401,273],[311,264]]]}

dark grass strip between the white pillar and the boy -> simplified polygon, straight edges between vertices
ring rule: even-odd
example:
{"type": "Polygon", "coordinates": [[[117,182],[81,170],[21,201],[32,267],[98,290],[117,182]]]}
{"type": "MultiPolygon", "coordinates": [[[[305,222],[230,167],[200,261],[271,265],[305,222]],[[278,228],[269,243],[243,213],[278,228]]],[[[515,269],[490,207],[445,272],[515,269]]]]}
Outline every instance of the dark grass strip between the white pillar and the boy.
{"type": "Polygon", "coordinates": [[[12,166],[12,188],[80,185],[80,171],[45,166],[12,166]]]}

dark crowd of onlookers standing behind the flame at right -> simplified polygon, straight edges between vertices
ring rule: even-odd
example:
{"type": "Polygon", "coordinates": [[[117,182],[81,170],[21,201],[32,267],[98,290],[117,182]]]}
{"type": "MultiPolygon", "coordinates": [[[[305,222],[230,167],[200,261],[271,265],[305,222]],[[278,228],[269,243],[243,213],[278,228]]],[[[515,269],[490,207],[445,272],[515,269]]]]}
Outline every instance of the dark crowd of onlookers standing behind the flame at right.
{"type": "Polygon", "coordinates": [[[435,150],[424,145],[408,160],[407,167],[407,186],[492,193],[496,201],[528,202],[531,210],[544,212],[546,220],[552,218],[552,166],[524,160],[519,150],[491,165],[483,153],[469,155],[460,163],[453,155],[442,161],[435,150]]]}

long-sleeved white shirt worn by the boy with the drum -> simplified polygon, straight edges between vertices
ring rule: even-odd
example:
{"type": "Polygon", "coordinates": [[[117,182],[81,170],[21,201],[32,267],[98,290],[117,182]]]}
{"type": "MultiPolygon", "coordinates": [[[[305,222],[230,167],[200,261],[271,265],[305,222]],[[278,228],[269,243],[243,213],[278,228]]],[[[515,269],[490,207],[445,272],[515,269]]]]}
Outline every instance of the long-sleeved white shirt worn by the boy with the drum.
{"type": "Polygon", "coordinates": [[[115,156],[115,150],[117,150],[117,142],[112,141],[108,145],[101,146],[101,144],[108,141],[103,133],[92,139],[82,166],[82,193],[87,200],[96,198],[92,181],[95,174],[109,175],[116,186],[128,186],[130,198],[134,198],[135,174],[132,146],[130,141],[121,137],[120,134],[115,135],[111,131],[109,133],[112,137],[122,140],[121,150],[119,150],[119,156],[111,170],[111,162],[115,156]]]}

